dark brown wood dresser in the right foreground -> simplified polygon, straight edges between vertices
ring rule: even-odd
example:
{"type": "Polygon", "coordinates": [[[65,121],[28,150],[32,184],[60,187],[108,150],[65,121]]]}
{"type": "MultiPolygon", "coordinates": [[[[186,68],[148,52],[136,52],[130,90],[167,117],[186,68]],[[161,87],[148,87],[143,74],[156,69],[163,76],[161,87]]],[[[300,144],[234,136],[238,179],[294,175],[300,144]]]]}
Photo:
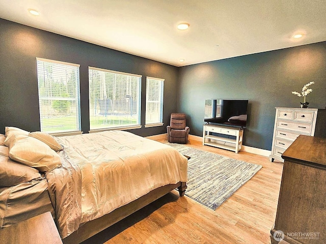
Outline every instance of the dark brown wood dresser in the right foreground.
{"type": "Polygon", "coordinates": [[[326,243],[326,138],[300,135],[282,158],[271,243],[326,243]]]}

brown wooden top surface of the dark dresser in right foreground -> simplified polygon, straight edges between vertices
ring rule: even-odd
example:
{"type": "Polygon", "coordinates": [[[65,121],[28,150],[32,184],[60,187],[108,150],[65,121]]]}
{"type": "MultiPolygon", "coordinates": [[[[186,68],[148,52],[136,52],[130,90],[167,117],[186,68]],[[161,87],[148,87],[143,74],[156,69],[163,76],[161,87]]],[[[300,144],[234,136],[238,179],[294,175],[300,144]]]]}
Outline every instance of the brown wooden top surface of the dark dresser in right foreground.
{"type": "Polygon", "coordinates": [[[285,150],[282,158],[326,169],[326,138],[300,135],[285,150]]]}

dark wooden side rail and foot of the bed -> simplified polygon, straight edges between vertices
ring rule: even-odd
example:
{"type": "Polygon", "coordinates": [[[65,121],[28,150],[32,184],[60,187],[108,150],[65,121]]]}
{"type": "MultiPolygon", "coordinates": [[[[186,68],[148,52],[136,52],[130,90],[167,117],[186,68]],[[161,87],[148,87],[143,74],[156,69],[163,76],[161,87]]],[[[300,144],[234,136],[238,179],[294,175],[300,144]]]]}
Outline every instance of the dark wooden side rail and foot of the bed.
{"type": "Polygon", "coordinates": [[[170,184],[163,187],[159,187],[146,195],[124,205],[121,206],[114,211],[110,212],[110,214],[104,215],[98,219],[89,221],[84,225],[80,226],[78,230],[68,235],[62,241],[64,244],[70,243],[80,243],[93,235],[101,232],[119,222],[120,220],[126,218],[127,216],[133,214],[135,211],[138,211],[142,207],[145,207],[149,203],[157,200],[158,198],[168,194],[172,190],[178,188],[180,197],[184,195],[184,192],[187,188],[186,182],[178,182],[177,184],[170,184]]]}

